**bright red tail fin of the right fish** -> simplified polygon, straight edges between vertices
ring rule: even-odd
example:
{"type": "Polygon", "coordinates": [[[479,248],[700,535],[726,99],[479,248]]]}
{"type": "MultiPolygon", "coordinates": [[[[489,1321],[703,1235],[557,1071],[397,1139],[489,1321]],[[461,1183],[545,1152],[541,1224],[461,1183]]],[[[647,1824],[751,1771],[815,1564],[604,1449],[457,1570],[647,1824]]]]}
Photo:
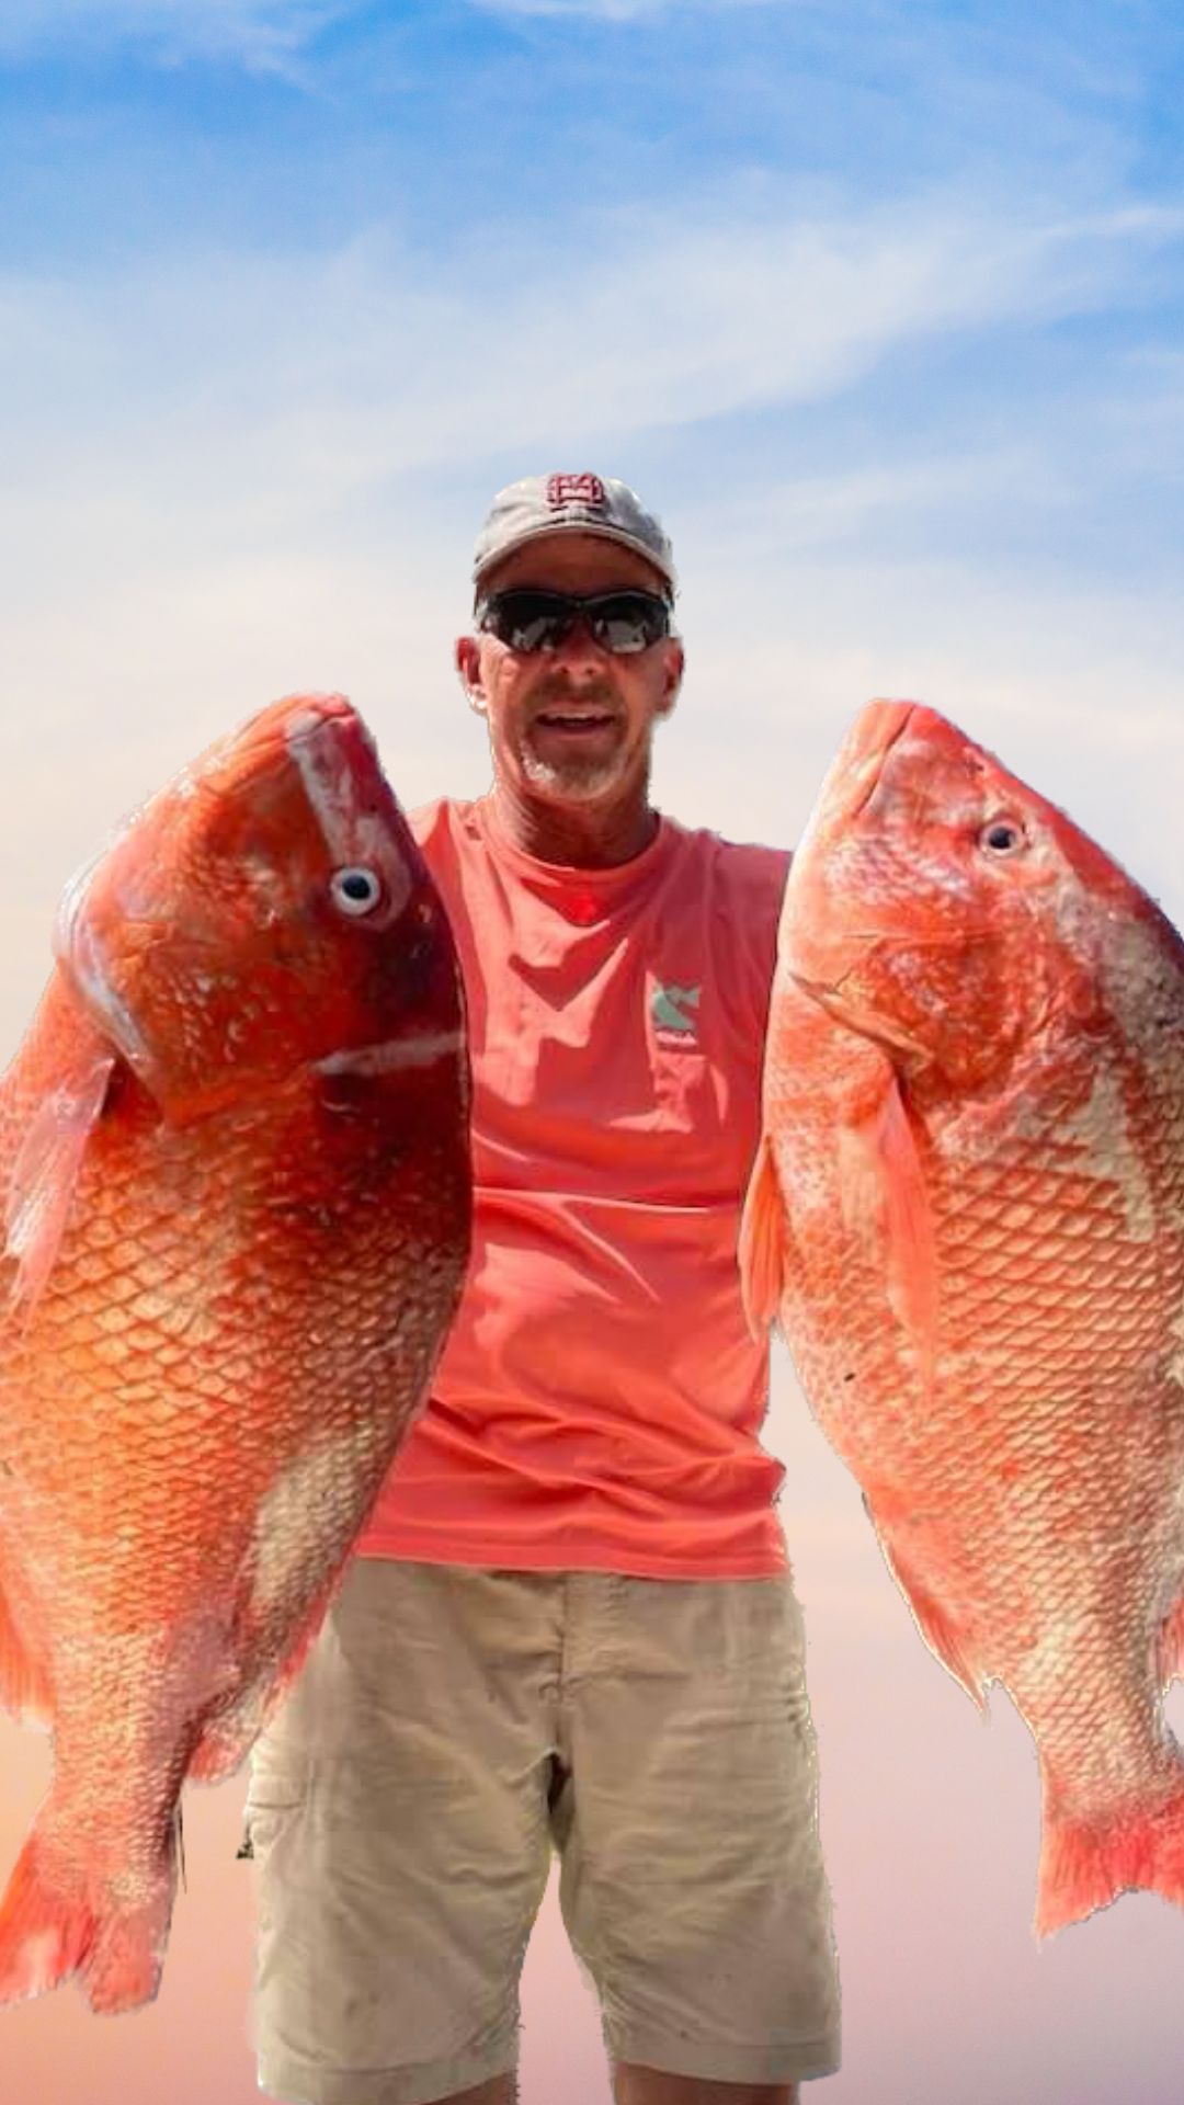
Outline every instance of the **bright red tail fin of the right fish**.
{"type": "Polygon", "coordinates": [[[1157,1812],[1125,1821],[1066,1821],[1045,1810],[1037,1937],[1081,1922],[1136,1886],[1184,1907],[1184,1781],[1157,1812]]]}

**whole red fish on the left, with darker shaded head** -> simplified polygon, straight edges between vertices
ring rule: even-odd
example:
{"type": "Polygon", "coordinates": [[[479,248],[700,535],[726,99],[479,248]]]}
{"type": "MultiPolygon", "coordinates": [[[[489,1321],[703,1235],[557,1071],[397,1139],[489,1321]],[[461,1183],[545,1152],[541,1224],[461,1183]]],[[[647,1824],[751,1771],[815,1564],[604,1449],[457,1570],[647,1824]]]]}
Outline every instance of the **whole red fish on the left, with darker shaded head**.
{"type": "Polygon", "coordinates": [[[0,2000],[156,1993],[181,1785],[324,1615],[468,1261],[451,933],[371,739],[276,703],[65,895],[0,1084],[0,1697],[55,1772],[0,2000]]]}

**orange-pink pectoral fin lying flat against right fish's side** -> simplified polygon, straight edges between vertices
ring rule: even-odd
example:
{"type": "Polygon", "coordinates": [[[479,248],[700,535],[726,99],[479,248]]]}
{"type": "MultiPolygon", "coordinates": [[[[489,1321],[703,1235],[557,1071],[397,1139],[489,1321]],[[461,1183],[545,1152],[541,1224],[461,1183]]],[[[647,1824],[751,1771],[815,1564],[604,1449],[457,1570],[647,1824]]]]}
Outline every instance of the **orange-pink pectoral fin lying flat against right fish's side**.
{"type": "Polygon", "coordinates": [[[874,1107],[843,1128],[841,1147],[843,1215],[881,1242],[889,1303],[912,1339],[929,1389],[938,1341],[938,1244],[925,1168],[889,1061],[874,1107]]]}

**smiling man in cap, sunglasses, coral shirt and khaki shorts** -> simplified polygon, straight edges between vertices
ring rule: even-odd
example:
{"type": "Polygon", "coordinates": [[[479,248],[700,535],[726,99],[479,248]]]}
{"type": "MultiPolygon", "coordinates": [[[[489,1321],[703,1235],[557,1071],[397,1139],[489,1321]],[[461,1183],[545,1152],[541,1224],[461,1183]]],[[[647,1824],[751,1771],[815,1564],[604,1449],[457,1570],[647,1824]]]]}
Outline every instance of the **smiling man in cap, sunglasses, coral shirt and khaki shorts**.
{"type": "Polygon", "coordinates": [[[838,1991],[735,1263],[788,857],[649,802],[683,646],[632,490],[512,484],[474,585],[493,789],[413,817],[466,977],[474,1257],[255,1751],[259,2082],[510,2105],[554,1844],[619,2105],[790,2105],[838,1991]]]}

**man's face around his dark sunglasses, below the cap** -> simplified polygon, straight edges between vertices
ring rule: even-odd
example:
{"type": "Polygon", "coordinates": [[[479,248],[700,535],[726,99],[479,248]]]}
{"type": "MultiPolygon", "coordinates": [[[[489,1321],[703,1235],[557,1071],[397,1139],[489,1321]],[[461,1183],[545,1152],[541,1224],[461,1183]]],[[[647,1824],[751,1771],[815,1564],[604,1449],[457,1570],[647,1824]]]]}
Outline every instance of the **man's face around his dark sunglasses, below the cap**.
{"type": "MultiPolygon", "coordinates": [[[[560,533],[514,549],[482,579],[482,596],[510,585],[541,592],[662,592],[657,570],[596,535],[560,533]]],[[[653,724],[674,707],[683,646],[662,638],[613,657],[579,621],[554,650],[512,650],[495,636],[461,636],[457,667],[470,703],[489,720],[499,781],[548,804],[645,794],[653,724]]]]}

